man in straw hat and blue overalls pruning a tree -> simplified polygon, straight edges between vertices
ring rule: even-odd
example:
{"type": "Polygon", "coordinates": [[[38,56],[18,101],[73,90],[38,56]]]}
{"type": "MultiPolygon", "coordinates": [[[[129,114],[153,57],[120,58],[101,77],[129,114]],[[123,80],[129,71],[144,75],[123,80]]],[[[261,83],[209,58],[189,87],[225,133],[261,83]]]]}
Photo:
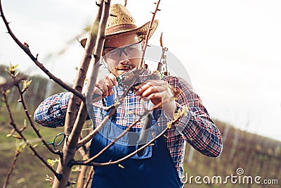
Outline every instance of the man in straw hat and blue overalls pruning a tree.
{"type": "MultiPolygon", "coordinates": [[[[138,68],[141,40],[148,32],[149,25],[146,23],[137,27],[126,7],[119,4],[110,7],[110,14],[114,16],[107,20],[103,49],[104,61],[110,74],[96,83],[95,91],[101,99],[96,98],[95,107],[88,108],[94,127],[108,114],[103,106],[111,106],[124,92],[122,82],[117,80],[138,68]]],[[[151,35],[157,24],[158,21],[155,20],[151,35]]],[[[86,39],[81,41],[82,46],[85,42],[86,39]]],[[[138,79],[141,84],[133,84],[117,108],[117,113],[92,139],[90,156],[95,156],[112,142],[126,127],[136,121],[137,116],[141,117],[148,106],[157,106],[159,103],[162,103],[162,106],[146,114],[147,118],[137,121],[126,136],[119,139],[94,162],[115,161],[136,151],[140,145],[159,134],[162,127],[166,127],[174,112],[187,109],[186,114],[165,132],[164,137],[159,137],[142,152],[122,161],[121,165],[124,168],[118,165],[95,166],[92,187],[183,187],[186,142],[206,156],[220,155],[221,133],[190,84],[181,77],[165,76],[155,79],[153,75],[155,74],[149,70],[141,73],[141,79],[138,79]],[[175,89],[181,91],[176,97],[173,92],[175,89]],[[147,124],[150,133],[145,141],[140,142],[139,132],[147,124]]],[[[63,126],[69,98],[70,93],[49,97],[35,111],[34,120],[46,127],[63,126]]]]}

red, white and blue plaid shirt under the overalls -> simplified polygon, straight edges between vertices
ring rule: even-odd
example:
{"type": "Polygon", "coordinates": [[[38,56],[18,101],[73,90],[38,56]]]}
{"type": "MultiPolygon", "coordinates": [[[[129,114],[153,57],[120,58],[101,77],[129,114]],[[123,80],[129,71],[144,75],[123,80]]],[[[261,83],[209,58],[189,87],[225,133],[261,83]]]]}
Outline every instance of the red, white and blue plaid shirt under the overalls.
{"type": "MultiPolygon", "coordinates": [[[[183,115],[165,133],[167,148],[171,153],[178,175],[183,180],[183,158],[186,142],[205,156],[216,157],[220,155],[223,148],[221,133],[209,117],[200,97],[188,82],[181,77],[172,76],[164,77],[163,80],[175,89],[181,89],[182,92],[176,99],[176,106],[177,109],[187,109],[186,115],[183,115]]],[[[114,91],[116,98],[119,92],[118,87],[115,87],[114,91]]],[[[34,120],[46,127],[63,126],[69,99],[70,93],[60,93],[48,97],[38,106],[34,113],[34,120]]],[[[103,106],[101,101],[98,101],[97,104],[103,106]]],[[[123,126],[130,125],[147,106],[148,101],[143,102],[133,92],[129,93],[124,102],[117,108],[116,123],[123,126]]],[[[93,114],[93,123],[96,125],[106,115],[105,111],[100,108],[96,108],[93,114]]],[[[162,111],[157,110],[157,124],[165,126],[169,120],[161,114],[162,111]]],[[[142,124],[143,122],[140,121],[135,127],[141,127],[142,124]]]]}

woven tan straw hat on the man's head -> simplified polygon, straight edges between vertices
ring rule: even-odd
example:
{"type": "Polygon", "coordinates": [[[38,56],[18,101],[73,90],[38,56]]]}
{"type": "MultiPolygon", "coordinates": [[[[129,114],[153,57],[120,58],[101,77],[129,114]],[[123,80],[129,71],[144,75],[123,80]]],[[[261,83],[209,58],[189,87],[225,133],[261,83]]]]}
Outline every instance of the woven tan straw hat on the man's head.
{"type": "MultiPolygon", "coordinates": [[[[105,39],[129,33],[138,33],[138,35],[145,37],[148,33],[149,25],[150,22],[138,27],[136,25],[136,20],[125,6],[121,4],[113,4],[110,6],[110,16],[107,19],[107,25],[105,27],[105,39]]],[[[157,25],[158,20],[154,20],[149,38],[152,36],[153,32],[155,32],[157,25]]],[[[81,40],[81,45],[83,47],[86,44],[86,40],[87,39],[81,40]]]]}

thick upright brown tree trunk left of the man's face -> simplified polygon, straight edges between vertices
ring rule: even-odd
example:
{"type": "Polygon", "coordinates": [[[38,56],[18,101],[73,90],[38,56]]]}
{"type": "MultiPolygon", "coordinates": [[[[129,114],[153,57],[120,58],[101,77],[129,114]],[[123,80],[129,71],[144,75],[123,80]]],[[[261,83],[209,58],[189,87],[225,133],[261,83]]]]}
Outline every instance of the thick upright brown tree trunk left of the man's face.
{"type": "MultiPolygon", "coordinates": [[[[93,54],[93,48],[96,46],[96,51],[99,51],[99,54],[96,54],[95,51],[95,63],[99,61],[101,56],[101,49],[103,45],[96,45],[103,43],[105,40],[105,24],[109,15],[110,1],[103,2],[100,1],[100,4],[97,4],[98,13],[96,19],[91,25],[91,30],[85,47],[84,57],[82,58],[81,65],[79,68],[79,73],[77,74],[77,81],[74,84],[74,88],[81,91],[82,86],[84,85],[84,79],[86,77],[86,72],[91,61],[93,54]],[[103,8],[104,7],[104,8],[103,8]],[[103,13],[103,16],[101,16],[103,13]],[[102,19],[100,20],[100,18],[102,19]],[[97,32],[98,28],[98,32],[97,32]],[[98,35],[98,37],[97,37],[98,35]],[[96,42],[97,39],[97,42],[96,42]],[[99,47],[98,47],[99,46],[99,47]],[[100,48],[100,49],[98,49],[100,48]]],[[[98,74],[95,76],[97,77],[98,74]]],[[[81,102],[79,107],[79,99],[77,96],[72,96],[70,98],[70,103],[67,107],[67,114],[65,118],[65,134],[67,135],[65,139],[65,144],[63,146],[63,158],[60,159],[58,164],[57,172],[62,176],[60,180],[55,178],[53,182],[53,188],[65,188],[68,184],[68,178],[70,176],[72,166],[69,165],[70,161],[74,160],[74,155],[77,151],[77,142],[81,134],[82,127],[86,120],[87,108],[84,101],[81,102]],[[79,113],[76,117],[77,111],[79,113]]]]}

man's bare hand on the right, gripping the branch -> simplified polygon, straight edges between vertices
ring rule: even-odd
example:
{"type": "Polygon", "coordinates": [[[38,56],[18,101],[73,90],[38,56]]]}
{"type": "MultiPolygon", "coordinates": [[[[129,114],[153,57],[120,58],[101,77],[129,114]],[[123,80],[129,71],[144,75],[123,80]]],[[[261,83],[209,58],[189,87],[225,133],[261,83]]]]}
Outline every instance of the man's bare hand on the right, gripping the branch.
{"type": "Polygon", "coordinates": [[[162,103],[162,108],[168,118],[173,118],[176,102],[171,86],[164,80],[148,80],[135,87],[136,95],[145,97],[157,105],[162,103]]]}

